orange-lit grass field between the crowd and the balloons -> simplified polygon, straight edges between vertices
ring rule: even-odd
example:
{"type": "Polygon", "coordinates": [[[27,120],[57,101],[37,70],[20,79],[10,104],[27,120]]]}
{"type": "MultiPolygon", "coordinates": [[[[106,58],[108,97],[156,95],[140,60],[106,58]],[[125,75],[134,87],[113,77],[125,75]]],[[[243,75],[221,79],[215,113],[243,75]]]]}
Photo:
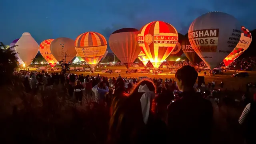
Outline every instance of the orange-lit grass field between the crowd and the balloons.
{"type": "MultiPolygon", "coordinates": [[[[70,66],[72,67],[72,66],[70,66]]],[[[132,73],[132,74],[126,74],[126,67],[125,66],[106,66],[104,68],[108,68],[110,70],[113,70],[114,73],[109,74],[109,73],[104,73],[101,71],[100,68],[95,68],[95,73],[90,73],[90,72],[75,72],[75,71],[71,71],[71,73],[73,72],[74,74],[84,74],[84,75],[92,75],[92,76],[96,76],[97,74],[100,74],[101,76],[107,76],[107,77],[117,77],[119,74],[122,77],[127,77],[127,78],[133,78],[133,77],[139,77],[139,76],[148,76],[150,78],[172,78],[175,79],[175,75],[174,74],[168,74],[169,70],[167,70],[166,68],[161,68],[160,70],[163,70],[164,73],[163,74],[143,74],[143,73],[132,73]],[[121,70],[120,73],[116,73],[115,70],[121,70]]],[[[139,67],[141,68],[141,67],[139,67]]],[[[130,68],[130,70],[132,69],[138,69],[138,68],[130,68]]],[[[31,69],[31,70],[35,70],[35,69],[31,69]]],[[[60,72],[60,71],[49,71],[49,73],[51,72],[60,72]]],[[[201,72],[203,73],[203,72],[201,72]]],[[[246,89],[246,84],[249,82],[256,82],[256,72],[248,72],[249,73],[249,77],[248,78],[234,78],[232,77],[232,74],[234,74],[234,72],[224,72],[224,74],[218,74],[215,76],[205,76],[205,82],[206,84],[208,82],[212,82],[213,80],[215,80],[216,82],[216,88],[219,88],[220,82],[223,81],[224,82],[224,89],[228,89],[228,90],[238,90],[239,88],[241,90],[245,90],[246,89]]],[[[198,74],[199,76],[204,76],[204,74],[198,74]]]]}

